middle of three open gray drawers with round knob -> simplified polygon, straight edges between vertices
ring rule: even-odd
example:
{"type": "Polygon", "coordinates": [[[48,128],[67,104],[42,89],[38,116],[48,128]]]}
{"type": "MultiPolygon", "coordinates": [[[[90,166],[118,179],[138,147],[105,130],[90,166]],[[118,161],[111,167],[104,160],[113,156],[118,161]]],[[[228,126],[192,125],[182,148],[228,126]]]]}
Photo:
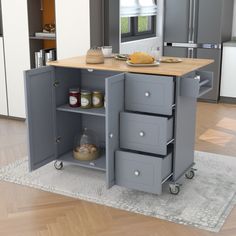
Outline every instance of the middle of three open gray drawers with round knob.
{"type": "Polygon", "coordinates": [[[120,113],[121,148],[166,155],[172,138],[173,118],[120,113]]]}

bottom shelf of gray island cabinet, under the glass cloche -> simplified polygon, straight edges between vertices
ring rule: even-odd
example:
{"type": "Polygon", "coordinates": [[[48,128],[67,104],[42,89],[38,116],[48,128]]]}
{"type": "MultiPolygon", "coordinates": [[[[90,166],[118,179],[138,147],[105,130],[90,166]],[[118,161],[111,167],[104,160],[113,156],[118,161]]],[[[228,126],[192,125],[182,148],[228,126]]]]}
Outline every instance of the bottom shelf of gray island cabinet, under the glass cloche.
{"type": "Polygon", "coordinates": [[[102,151],[101,157],[98,158],[97,160],[94,160],[94,161],[79,161],[79,160],[76,160],[76,159],[74,159],[72,152],[69,152],[69,153],[66,153],[66,154],[60,156],[58,161],[62,161],[62,162],[65,161],[65,162],[69,162],[73,165],[78,165],[78,166],[82,166],[82,167],[86,167],[86,168],[90,168],[90,169],[95,169],[95,170],[106,171],[106,154],[105,154],[105,150],[102,151]]]}

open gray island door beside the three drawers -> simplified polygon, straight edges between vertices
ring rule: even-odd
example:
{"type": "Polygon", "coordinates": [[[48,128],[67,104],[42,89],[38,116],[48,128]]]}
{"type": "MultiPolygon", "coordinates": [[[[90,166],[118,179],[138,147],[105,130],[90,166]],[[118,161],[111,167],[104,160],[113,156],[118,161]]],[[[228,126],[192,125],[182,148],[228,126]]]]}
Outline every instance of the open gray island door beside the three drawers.
{"type": "Polygon", "coordinates": [[[106,183],[115,183],[115,151],[119,149],[119,115],[124,110],[124,74],[106,79],[106,183]]]}

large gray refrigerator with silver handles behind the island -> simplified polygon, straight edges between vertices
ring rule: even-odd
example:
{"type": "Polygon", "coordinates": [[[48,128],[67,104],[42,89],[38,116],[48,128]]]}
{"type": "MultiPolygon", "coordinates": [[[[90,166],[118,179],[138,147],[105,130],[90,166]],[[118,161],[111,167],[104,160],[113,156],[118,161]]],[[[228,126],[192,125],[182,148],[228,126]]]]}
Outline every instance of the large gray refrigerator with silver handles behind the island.
{"type": "Polygon", "coordinates": [[[219,99],[222,43],[231,39],[234,0],[165,0],[164,55],[214,59],[213,90],[201,99],[219,99]]]}

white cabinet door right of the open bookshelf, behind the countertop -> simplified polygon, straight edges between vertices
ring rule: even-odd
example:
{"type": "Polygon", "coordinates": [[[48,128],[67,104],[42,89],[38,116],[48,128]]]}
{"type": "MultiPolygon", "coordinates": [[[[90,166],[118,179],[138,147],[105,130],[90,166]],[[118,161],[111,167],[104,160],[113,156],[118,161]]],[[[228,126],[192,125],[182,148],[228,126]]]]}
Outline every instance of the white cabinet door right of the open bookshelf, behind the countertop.
{"type": "Polygon", "coordinates": [[[89,2],[55,0],[58,59],[84,55],[90,48],[89,2]]]}

